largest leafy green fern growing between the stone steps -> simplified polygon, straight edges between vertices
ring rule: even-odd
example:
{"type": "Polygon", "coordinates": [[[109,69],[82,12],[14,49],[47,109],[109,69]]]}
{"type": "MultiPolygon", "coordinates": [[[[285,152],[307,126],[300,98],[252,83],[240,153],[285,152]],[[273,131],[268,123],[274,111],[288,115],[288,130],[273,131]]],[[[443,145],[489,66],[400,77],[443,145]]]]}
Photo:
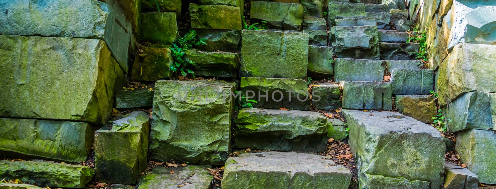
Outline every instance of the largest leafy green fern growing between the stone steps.
{"type": "Polygon", "coordinates": [[[174,63],[171,65],[171,70],[174,72],[180,72],[183,77],[188,74],[194,77],[194,62],[186,61],[185,52],[192,47],[205,45],[207,39],[198,39],[195,30],[189,30],[183,37],[176,39],[172,44],[171,49],[172,57],[174,58],[174,63]]]}

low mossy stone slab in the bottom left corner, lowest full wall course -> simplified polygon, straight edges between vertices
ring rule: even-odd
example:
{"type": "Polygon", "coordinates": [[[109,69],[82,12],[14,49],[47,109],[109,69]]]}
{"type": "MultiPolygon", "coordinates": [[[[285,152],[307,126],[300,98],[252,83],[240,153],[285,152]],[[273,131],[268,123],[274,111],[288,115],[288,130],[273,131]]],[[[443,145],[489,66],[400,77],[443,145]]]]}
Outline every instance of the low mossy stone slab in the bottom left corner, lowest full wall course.
{"type": "Polygon", "coordinates": [[[0,177],[51,188],[83,188],[93,178],[90,167],[42,161],[0,161],[0,177]]]}

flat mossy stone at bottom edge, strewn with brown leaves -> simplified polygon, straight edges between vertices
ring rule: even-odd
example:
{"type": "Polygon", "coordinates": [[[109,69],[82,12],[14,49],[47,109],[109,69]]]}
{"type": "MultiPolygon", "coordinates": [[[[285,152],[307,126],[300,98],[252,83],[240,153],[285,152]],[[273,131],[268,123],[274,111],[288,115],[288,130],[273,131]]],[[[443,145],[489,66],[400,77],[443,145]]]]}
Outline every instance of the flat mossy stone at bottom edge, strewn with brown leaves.
{"type": "Polygon", "coordinates": [[[210,189],[213,176],[210,166],[187,165],[185,167],[155,167],[151,174],[141,176],[139,189],[210,189]],[[174,174],[171,174],[174,171],[174,174]],[[180,187],[182,186],[182,187],[180,187]]]}

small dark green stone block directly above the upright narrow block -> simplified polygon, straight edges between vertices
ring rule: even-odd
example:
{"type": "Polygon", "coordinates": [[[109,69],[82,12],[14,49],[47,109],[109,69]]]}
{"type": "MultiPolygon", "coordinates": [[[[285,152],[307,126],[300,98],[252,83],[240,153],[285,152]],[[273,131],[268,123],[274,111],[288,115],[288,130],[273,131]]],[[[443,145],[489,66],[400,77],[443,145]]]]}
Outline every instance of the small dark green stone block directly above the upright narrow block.
{"type": "Polygon", "coordinates": [[[151,107],[153,103],[153,90],[117,90],[116,108],[151,107]]]}

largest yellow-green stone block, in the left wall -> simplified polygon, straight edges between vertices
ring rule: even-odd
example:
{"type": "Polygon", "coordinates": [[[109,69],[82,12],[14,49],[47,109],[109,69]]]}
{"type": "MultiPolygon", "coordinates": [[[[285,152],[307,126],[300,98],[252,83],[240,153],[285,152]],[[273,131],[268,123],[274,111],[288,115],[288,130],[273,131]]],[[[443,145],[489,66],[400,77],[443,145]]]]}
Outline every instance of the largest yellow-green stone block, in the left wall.
{"type": "Polygon", "coordinates": [[[0,116],[103,124],[124,74],[99,39],[0,35],[0,116]]]}

